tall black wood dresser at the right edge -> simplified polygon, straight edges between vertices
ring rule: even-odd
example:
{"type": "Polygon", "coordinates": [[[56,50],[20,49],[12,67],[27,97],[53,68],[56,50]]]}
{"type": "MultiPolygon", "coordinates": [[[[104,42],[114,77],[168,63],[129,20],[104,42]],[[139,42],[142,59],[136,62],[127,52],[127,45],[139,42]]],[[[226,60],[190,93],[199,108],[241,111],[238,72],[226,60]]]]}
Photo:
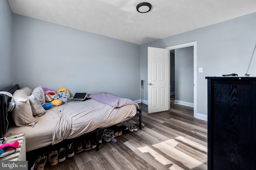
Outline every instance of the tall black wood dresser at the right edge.
{"type": "Polygon", "coordinates": [[[208,170],[256,170],[256,77],[206,79],[208,170]]]}

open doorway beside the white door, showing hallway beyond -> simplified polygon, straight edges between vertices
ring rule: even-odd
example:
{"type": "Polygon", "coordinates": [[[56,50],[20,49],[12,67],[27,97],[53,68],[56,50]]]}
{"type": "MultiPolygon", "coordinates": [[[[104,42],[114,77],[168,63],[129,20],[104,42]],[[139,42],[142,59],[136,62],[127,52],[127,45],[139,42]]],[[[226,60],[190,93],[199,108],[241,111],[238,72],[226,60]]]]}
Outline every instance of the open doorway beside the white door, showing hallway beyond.
{"type": "Polygon", "coordinates": [[[194,107],[194,52],[193,47],[170,50],[171,102],[194,107]]]}

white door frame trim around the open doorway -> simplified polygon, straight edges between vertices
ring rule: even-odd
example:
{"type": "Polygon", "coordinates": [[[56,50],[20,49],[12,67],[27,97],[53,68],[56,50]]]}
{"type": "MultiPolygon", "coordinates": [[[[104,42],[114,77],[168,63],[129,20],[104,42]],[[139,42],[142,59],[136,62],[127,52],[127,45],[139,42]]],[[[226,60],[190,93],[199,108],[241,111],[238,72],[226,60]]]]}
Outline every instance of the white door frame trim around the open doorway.
{"type": "Polygon", "coordinates": [[[188,42],[188,43],[182,43],[179,45],[172,45],[169,47],[166,47],[166,49],[172,50],[172,49],[178,49],[178,48],[184,48],[184,47],[194,47],[194,117],[197,117],[197,85],[196,85],[196,75],[197,75],[197,69],[196,69],[196,57],[197,57],[197,42],[188,42]]]}

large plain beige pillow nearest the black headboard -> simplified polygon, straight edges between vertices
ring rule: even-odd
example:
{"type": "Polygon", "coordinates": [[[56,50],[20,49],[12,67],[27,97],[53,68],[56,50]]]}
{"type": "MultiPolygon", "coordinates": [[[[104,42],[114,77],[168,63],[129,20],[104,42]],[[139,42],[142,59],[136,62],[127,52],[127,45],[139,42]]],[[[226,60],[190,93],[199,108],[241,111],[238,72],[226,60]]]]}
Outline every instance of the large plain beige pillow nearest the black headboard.
{"type": "Polygon", "coordinates": [[[32,109],[29,103],[28,95],[24,90],[16,90],[13,94],[15,107],[12,110],[12,119],[16,126],[32,126],[37,123],[33,117],[32,109]]]}

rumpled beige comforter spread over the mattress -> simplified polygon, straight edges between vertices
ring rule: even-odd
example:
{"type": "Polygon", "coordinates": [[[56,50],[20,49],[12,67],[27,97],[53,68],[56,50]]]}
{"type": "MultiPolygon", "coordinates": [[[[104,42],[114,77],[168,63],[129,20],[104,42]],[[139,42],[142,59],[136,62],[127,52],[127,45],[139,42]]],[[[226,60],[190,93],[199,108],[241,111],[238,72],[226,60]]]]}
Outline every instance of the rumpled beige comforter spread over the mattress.
{"type": "Polygon", "coordinates": [[[37,117],[34,127],[10,127],[6,136],[25,133],[26,151],[56,144],[64,139],[78,137],[99,127],[108,127],[136,115],[135,105],[114,109],[90,99],[79,103],[66,103],[47,110],[37,117]]]}

